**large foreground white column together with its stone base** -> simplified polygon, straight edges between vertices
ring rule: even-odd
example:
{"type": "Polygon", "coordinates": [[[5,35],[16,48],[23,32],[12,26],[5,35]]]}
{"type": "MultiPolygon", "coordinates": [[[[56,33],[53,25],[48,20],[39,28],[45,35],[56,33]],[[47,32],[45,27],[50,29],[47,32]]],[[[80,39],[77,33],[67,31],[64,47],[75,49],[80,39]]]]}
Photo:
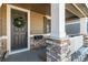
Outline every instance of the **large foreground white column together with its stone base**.
{"type": "Polygon", "coordinates": [[[70,61],[70,42],[66,39],[65,31],[65,3],[51,4],[51,37],[46,40],[47,61],[62,62],[70,61]]]}

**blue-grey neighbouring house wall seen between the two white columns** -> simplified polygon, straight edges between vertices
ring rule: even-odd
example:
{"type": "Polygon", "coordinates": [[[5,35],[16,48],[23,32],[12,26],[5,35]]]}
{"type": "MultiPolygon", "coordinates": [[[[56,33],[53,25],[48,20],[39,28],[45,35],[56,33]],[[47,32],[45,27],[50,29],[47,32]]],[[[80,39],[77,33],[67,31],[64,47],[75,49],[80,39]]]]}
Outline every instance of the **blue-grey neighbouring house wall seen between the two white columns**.
{"type": "Polygon", "coordinates": [[[77,35],[80,34],[80,20],[71,20],[66,23],[66,33],[67,35],[77,35]]]}

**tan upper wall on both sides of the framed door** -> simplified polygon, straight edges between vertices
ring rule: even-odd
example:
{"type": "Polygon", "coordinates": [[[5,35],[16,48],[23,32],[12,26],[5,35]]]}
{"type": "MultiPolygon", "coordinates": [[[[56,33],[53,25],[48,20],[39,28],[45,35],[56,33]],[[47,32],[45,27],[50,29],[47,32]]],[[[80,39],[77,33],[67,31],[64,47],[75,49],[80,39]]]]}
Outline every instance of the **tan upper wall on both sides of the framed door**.
{"type": "MultiPolygon", "coordinates": [[[[31,34],[43,33],[43,14],[30,12],[30,31],[31,34]]],[[[7,4],[0,8],[0,35],[7,35],[7,4]]]]}

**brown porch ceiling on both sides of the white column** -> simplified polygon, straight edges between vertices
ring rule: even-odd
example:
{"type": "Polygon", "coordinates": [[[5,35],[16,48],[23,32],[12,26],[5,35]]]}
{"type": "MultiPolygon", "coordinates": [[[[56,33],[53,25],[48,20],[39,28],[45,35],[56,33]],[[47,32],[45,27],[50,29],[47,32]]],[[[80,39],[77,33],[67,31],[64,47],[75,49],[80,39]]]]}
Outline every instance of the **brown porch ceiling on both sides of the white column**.
{"type": "MultiPolygon", "coordinates": [[[[45,15],[50,14],[50,3],[11,3],[45,15]]],[[[66,3],[66,20],[88,17],[88,8],[85,3],[66,3]]]]}

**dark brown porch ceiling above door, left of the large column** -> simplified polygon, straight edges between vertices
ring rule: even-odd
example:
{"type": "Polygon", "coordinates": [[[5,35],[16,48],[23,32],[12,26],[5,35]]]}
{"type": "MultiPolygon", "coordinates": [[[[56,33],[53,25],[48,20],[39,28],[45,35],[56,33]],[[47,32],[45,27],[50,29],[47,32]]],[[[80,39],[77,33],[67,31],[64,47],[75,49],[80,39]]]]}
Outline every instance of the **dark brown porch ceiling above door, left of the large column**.
{"type": "Polygon", "coordinates": [[[50,3],[11,3],[41,14],[50,15],[50,3]]]}

